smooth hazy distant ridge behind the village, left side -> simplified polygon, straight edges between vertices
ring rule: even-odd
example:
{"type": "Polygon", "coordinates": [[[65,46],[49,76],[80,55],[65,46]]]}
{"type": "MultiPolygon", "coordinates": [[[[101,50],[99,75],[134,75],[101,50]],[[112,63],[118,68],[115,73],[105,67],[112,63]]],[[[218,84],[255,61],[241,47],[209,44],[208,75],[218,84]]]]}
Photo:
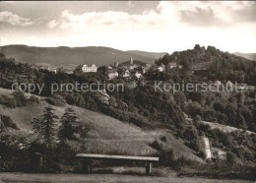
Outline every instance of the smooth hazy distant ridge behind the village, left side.
{"type": "MultiPolygon", "coordinates": [[[[34,47],[27,45],[7,45],[1,47],[7,57],[14,57],[18,62],[52,65],[74,69],[79,64],[92,64],[97,66],[110,65],[129,60],[140,60],[146,63],[154,63],[158,53],[141,51],[121,51],[110,47],[34,47]],[[137,53],[136,53],[137,52],[137,53]]],[[[161,55],[161,54],[160,54],[161,55]]]]}

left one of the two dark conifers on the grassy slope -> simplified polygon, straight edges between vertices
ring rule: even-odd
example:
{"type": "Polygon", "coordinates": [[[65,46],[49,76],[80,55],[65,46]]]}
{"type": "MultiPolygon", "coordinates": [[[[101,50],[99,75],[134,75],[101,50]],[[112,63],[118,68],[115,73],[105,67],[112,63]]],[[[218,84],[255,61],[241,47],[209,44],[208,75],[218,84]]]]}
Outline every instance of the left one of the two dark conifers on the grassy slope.
{"type": "Polygon", "coordinates": [[[32,129],[38,140],[42,140],[46,147],[50,147],[54,141],[56,116],[53,109],[45,107],[43,114],[32,121],[32,129]]]}

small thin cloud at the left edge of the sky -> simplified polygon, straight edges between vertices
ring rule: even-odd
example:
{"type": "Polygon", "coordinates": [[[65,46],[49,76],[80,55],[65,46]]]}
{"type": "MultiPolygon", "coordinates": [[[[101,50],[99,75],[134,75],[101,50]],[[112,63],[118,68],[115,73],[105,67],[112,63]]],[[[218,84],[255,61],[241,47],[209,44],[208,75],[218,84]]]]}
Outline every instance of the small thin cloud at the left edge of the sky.
{"type": "Polygon", "coordinates": [[[13,26],[31,26],[33,23],[31,19],[22,18],[11,12],[0,12],[0,22],[9,23],[13,26]]]}

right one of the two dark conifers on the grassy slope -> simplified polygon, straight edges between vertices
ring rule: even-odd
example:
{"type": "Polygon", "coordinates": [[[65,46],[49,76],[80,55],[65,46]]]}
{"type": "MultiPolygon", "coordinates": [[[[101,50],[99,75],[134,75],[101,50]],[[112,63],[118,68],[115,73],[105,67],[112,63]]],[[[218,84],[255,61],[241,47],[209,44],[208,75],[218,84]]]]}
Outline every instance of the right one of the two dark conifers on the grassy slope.
{"type": "Polygon", "coordinates": [[[80,123],[72,108],[66,108],[65,113],[60,119],[61,126],[59,129],[58,137],[62,143],[67,140],[76,139],[75,134],[78,132],[80,123]]]}

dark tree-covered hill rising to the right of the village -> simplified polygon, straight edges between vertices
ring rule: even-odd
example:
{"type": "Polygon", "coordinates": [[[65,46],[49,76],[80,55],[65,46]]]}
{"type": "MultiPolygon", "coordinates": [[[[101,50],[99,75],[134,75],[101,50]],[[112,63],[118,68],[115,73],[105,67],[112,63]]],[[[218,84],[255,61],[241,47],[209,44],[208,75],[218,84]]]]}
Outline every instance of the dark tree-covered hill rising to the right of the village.
{"type": "Polygon", "coordinates": [[[223,52],[213,46],[208,46],[206,49],[197,44],[194,49],[165,54],[157,64],[166,65],[170,62],[181,64],[186,70],[199,72],[201,70],[200,76],[208,81],[220,80],[256,85],[256,62],[223,52]]]}

